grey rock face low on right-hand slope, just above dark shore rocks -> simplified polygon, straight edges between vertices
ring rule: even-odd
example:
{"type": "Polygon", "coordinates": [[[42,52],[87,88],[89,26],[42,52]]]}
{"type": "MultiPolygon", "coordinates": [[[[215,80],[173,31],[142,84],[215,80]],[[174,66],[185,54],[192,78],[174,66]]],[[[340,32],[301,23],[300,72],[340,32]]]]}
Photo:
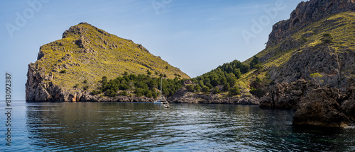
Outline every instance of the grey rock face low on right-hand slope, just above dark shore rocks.
{"type": "Polygon", "coordinates": [[[321,86],[330,85],[345,91],[355,83],[355,52],[337,52],[327,45],[318,48],[305,48],[295,52],[292,57],[269,74],[276,83],[297,81],[300,78],[315,81],[321,86]],[[320,76],[312,76],[312,74],[320,76]]]}

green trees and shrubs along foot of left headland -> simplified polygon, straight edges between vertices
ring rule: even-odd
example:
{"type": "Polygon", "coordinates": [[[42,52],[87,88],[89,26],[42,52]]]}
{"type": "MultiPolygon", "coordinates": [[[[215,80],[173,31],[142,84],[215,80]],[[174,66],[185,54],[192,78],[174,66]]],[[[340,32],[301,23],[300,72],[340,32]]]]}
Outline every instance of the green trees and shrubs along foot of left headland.
{"type": "MultiPolygon", "coordinates": [[[[182,88],[184,79],[163,78],[163,95],[169,97],[173,95],[179,88],[182,88]]],[[[107,80],[106,76],[102,77],[102,86],[99,90],[92,91],[92,94],[97,95],[104,93],[105,96],[114,97],[116,95],[134,95],[141,97],[146,96],[148,98],[157,98],[159,96],[160,78],[151,77],[145,74],[130,74],[126,76],[119,76],[112,80],[107,80]]]]}

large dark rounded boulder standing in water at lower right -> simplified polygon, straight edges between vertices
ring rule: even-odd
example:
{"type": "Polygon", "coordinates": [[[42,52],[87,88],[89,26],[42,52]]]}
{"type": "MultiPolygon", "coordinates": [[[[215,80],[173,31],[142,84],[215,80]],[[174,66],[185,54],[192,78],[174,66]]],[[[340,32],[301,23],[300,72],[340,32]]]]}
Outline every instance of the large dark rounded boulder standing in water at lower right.
{"type": "Polygon", "coordinates": [[[330,86],[317,88],[301,98],[293,117],[294,125],[345,127],[349,119],[340,111],[337,102],[340,91],[330,86]]]}

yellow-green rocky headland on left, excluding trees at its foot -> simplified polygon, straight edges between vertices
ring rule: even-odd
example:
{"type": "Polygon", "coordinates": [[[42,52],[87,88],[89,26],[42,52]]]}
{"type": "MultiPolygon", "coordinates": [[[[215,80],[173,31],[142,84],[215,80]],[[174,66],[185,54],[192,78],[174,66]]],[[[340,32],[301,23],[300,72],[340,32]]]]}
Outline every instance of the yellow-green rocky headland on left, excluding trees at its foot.
{"type": "Polygon", "coordinates": [[[114,79],[125,73],[190,78],[132,40],[80,23],[66,30],[62,39],[40,47],[37,61],[28,65],[26,100],[104,100],[90,92],[101,85],[103,76],[114,79]]]}

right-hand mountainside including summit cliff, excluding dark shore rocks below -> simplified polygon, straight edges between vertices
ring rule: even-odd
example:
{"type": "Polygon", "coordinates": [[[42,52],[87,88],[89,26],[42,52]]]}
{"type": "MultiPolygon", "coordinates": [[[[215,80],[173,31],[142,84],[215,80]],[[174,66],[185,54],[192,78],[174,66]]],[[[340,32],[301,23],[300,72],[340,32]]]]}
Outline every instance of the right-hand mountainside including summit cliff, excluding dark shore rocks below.
{"type": "Polygon", "coordinates": [[[355,83],[354,11],[354,1],[300,3],[290,19],[273,26],[266,49],[256,54],[264,74],[273,83],[302,78],[346,91],[355,83]]]}

